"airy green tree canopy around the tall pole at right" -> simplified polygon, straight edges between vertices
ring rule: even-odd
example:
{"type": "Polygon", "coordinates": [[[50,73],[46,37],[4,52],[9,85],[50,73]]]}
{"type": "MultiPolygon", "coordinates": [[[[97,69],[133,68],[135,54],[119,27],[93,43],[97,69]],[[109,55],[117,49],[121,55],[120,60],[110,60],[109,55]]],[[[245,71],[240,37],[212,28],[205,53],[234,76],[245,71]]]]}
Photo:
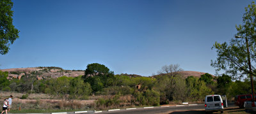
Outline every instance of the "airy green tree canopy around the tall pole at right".
{"type": "MultiPolygon", "coordinates": [[[[241,38],[232,38],[230,43],[215,43],[212,48],[217,52],[217,59],[211,61],[211,66],[216,68],[216,71],[225,71],[232,78],[241,78],[250,73],[248,67],[248,53],[246,47],[246,38],[250,50],[250,59],[252,63],[252,75],[256,76],[256,6],[255,3],[248,5],[245,8],[243,15],[243,24],[236,25],[237,34],[241,38]]],[[[234,37],[235,37],[234,36],[234,37]]]]}

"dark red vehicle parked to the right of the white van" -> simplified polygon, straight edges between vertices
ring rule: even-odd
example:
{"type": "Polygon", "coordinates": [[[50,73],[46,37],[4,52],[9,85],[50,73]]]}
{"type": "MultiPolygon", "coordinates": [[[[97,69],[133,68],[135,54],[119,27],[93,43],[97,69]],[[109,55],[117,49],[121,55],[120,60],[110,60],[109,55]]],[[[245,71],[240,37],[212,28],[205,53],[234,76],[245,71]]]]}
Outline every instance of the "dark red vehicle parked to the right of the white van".
{"type": "Polygon", "coordinates": [[[252,95],[239,95],[235,97],[235,104],[239,108],[244,108],[245,101],[252,101],[252,95]]]}

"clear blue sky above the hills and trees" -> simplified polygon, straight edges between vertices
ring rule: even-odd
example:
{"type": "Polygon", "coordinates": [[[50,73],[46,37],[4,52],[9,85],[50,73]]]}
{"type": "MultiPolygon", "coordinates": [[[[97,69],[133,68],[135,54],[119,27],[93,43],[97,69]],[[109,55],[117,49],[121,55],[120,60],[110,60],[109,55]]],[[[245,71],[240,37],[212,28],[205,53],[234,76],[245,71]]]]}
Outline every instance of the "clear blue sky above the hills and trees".
{"type": "Polygon", "coordinates": [[[215,41],[230,41],[252,1],[15,0],[20,38],[0,69],[104,64],[150,76],[162,66],[214,74],[215,41]]]}

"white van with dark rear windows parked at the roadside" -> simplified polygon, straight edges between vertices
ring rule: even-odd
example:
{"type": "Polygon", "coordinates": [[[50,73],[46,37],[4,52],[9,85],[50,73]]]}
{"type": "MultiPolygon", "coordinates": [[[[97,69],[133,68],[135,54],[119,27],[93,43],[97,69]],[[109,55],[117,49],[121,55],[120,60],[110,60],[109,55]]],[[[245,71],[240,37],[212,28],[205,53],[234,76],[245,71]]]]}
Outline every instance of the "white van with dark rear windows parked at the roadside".
{"type": "Polygon", "coordinates": [[[205,96],[205,112],[206,113],[212,112],[212,111],[221,111],[221,113],[223,113],[224,107],[227,107],[226,96],[220,96],[220,95],[205,96]]]}

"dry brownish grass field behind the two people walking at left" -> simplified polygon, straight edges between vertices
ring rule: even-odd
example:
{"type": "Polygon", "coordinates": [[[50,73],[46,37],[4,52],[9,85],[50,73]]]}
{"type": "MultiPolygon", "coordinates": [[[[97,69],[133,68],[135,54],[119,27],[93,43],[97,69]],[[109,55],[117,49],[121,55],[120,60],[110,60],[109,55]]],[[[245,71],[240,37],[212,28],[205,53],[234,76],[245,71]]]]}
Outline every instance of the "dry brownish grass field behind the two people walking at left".
{"type": "Polygon", "coordinates": [[[29,94],[27,99],[20,99],[24,94],[18,92],[0,92],[0,103],[10,95],[13,96],[13,110],[19,107],[22,110],[86,110],[95,103],[95,100],[63,101],[48,94],[29,94]]]}

